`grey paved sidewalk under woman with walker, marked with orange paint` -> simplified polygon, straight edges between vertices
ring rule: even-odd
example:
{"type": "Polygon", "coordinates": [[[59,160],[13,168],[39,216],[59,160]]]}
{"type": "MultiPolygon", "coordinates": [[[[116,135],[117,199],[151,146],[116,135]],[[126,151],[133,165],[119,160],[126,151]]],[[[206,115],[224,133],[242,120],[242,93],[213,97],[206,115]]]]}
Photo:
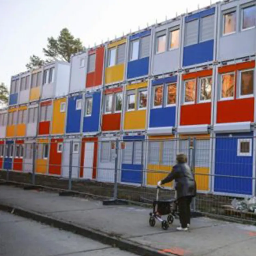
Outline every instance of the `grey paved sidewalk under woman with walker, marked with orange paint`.
{"type": "MultiPolygon", "coordinates": [[[[177,232],[175,219],[167,231],[160,223],[148,224],[150,209],[111,205],[77,197],[60,197],[56,193],[23,190],[1,185],[1,205],[72,223],[103,232],[159,253],[188,256],[253,256],[256,251],[256,227],[199,217],[191,219],[189,232],[177,232]]],[[[146,255],[146,254],[145,254],[146,255]]],[[[153,254],[152,254],[153,255],[153,254]]],[[[160,255],[160,254],[159,254],[160,255]]]]}

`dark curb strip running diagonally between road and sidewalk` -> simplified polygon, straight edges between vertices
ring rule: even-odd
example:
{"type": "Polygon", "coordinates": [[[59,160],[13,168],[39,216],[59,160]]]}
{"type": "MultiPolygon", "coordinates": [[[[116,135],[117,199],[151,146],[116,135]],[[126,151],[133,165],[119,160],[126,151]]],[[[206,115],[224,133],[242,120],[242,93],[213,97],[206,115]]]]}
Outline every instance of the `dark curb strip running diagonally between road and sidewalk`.
{"type": "Polygon", "coordinates": [[[144,245],[138,244],[138,243],[130,241],[130,240],[112,237],[112,236],[110,236],[106,233],[100,232],[98,230],[85,228],[85,227],[79,227],[75,224],[65,222],[63,220],[54,219],[52,217],[43,215],[41,213],[28,211],[28,210],[22,209],[20,207],[15,207],[15,206],[8,205],[5,203],[0,204],[0,210],[9,212],[12,214],[16,214],[16,215],[19,215],[19,216],[22,216],[25,218],[30,218],[30,219],[33,219],[34,221],[41,222],[41,223],[47,224],[49,226],[53,226],[53,227],[65,230],[65,231],[73,232],[73,233],[79,234],[83,237],[87,237],[87,238],[93,239],[95,241],[101,242],[103,244],[108,244],[113,247],[117,247],[120,250],[134,253],[137,255],[142,255],[142,256],[173,255],[170,253],[166,254],[163,252],[159,252],[159,251],[155,250],[154,248],[151,248],[149,246],[144,246],[144,245]]]}

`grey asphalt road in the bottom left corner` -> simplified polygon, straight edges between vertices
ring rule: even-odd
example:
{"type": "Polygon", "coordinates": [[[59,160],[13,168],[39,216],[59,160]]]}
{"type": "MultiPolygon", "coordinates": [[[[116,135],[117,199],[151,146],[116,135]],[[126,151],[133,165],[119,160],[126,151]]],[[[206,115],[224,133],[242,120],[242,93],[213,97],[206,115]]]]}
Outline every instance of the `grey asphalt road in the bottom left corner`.
{"type": "Polygon", "coordinates": [[[91,239],[0,212],[1,256],[134,256],[91,239]]]}

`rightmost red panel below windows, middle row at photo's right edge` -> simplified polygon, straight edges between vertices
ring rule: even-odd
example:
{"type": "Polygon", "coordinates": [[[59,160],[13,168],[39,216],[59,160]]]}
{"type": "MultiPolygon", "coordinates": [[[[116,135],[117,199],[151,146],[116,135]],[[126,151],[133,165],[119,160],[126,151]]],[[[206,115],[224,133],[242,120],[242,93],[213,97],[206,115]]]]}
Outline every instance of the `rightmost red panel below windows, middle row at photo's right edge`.
{"type": "Polygon", "coordinates": [[[217,102],[217,123],[253,122],[254,98],[217,102]]]}

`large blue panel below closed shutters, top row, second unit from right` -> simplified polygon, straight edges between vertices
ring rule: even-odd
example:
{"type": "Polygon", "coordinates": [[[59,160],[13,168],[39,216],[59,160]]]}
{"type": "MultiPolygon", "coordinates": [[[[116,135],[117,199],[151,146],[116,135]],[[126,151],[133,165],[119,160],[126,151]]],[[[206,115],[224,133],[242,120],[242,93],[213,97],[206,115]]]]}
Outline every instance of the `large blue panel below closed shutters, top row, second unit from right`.
{"type": "Polygon", "coordinates": [[[213,60],[214,40],[189,45],[183,49],[183,66],[191,66],[213,60]]]}

